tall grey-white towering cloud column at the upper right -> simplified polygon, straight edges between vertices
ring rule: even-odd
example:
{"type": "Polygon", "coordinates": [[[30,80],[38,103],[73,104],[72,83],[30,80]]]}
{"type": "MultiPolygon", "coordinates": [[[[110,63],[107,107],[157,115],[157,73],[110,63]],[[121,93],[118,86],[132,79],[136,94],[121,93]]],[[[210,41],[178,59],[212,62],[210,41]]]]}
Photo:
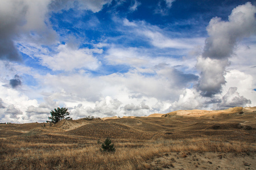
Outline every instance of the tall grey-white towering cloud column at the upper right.
{"type": "Polygon", "coordinates": [[[232,10],[228,22],[220,18],[210,20],[203,57],[199,57],[196,65],[201,72],[197,87],[204,96],[221,93],[228,58],[232,57],[237,41],[256,33],[255,13],[256,7],[247,2],[232,10]]]}

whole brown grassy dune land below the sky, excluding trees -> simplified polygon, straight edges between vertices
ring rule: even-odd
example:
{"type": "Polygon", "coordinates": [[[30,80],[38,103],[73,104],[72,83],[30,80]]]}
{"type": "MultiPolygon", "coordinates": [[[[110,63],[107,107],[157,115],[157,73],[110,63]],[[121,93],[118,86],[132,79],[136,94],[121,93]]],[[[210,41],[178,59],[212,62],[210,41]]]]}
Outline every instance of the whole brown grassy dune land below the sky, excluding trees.
{"type": "Polygon", "coordinates": [[[256,107],[0,125],[0,169],[256,169],[255,155],[256,107]]]}

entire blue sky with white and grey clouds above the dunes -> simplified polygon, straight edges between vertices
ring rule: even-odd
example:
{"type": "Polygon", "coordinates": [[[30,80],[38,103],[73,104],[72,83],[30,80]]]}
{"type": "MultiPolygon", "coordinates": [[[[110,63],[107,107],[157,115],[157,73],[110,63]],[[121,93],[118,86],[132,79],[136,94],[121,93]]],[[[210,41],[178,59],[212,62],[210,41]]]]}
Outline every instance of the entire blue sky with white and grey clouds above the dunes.
{"type": "Polygon", "coordinates": [[[256,1],[2,0],[0,122],[256,106],[256,1]]]}

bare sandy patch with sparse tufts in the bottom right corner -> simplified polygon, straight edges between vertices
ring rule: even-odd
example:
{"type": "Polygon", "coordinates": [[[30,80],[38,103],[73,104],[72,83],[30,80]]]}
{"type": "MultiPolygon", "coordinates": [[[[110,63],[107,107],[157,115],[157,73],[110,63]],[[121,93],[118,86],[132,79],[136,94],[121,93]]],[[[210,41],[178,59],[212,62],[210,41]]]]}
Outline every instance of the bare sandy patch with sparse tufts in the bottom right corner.
{"type": "Polygon", "coordinates": [[[155,169],[256,169],[255,155],[255,152],[171,152],[156,156],[146,164],[155,169]]]}

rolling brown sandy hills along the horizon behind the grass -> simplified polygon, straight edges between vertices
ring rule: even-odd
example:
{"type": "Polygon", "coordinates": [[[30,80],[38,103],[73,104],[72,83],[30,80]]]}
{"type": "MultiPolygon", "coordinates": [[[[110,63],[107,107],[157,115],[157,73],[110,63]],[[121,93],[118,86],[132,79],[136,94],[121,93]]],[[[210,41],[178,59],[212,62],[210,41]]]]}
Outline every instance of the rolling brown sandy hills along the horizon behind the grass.
{"type": "Polygon", "coordinates": [[[256,107],[229,108],[221,111],[175,111],[151,114],[147,117],[94,118],[93,120],[63,120],[49,124],[0,125],[0,136],[59,134],[86,138],[184,138],[189,135],[232,134],[240,131],[255,133],[256,107]]]}

